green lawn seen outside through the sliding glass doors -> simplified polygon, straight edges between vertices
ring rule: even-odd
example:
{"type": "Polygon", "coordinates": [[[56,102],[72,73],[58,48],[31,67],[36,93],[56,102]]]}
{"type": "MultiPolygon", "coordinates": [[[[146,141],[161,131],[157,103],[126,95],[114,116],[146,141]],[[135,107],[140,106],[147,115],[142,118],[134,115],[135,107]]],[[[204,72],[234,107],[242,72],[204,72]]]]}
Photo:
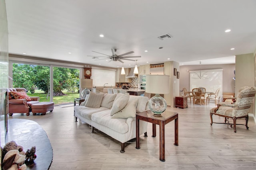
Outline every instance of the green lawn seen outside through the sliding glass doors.
{"type": "MultiPolygon", "coordinates": [[[[39,96],[40,102],[50,102],[50,96],[47,97],[47,94],[44,94],[41,90],[36,90],[35,93],[27,93],[28,96],[39,96]]],[[[53,96],[53,102],[54,104],[68,104],[68,103],[74,103],[74,98],[79,98],[79,93],[70,93],[70,92],[64,92],[64,94],[67,94],[66,96],[53,96]]]]}

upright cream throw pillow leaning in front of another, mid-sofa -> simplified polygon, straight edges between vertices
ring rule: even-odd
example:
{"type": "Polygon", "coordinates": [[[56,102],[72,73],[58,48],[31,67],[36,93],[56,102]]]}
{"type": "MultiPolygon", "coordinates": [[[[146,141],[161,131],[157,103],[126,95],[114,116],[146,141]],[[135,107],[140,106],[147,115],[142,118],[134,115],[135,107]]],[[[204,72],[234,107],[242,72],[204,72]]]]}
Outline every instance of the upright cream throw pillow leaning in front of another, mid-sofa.
{"type": "Polygon", "coordinates": [[[128,100],[130,98],[130,95],[129,95],[129,93],[118,94],[116,96],[116,98],[113,102],[113,106],[112,106],[111,111],[110,111],[111,116],[114,115],[116,112],[122,110],[126,106],[126,104],[128,103],[128,100]]]}

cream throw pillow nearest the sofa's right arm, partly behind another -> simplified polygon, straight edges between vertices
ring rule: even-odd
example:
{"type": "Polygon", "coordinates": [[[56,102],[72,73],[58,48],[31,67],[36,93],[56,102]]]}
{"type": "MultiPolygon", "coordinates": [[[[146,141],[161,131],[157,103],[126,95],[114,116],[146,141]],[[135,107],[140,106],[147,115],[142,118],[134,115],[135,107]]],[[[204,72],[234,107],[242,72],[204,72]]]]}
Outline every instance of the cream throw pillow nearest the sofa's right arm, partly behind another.
{"type": "Polygon", "coordinates": [[[136,116],[136,106],[138,104],[138,100],[129,100],[126,106],[115,113],[111,118],[128,118],[136,116]]]}

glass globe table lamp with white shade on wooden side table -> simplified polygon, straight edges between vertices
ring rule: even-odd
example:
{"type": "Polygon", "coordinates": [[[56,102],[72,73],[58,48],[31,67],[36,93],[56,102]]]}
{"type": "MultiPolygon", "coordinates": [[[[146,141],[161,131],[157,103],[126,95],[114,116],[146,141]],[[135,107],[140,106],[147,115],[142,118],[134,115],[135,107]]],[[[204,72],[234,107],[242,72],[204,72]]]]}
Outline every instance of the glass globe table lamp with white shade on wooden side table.
{"type": "Polygon", "coordinates": [[[168,94],[170,89],[170,76],[146,75],[146,92],[156,94],[150,98],[148,106],[155,115],[166,110],[167,104],[160,94],[168,94]]]}

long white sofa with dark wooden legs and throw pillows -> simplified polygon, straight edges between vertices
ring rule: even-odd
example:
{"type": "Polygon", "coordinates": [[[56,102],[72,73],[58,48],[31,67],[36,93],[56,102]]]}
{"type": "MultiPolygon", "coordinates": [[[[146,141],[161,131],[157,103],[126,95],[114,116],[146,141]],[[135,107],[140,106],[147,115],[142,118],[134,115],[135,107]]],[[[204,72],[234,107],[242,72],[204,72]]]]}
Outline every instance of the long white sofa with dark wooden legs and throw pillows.
{"type": "MultiPolygon", "coordinates": [[[[148,98],[127,94],[90,92],[80,106],[75,106],[75,117],[120,141],[124,152],[125,143],[136,138],[136,113],[145,111],[148,98]]],[[[147,136],[147,122],[140,121],[140,135],[147,136]]]]}

